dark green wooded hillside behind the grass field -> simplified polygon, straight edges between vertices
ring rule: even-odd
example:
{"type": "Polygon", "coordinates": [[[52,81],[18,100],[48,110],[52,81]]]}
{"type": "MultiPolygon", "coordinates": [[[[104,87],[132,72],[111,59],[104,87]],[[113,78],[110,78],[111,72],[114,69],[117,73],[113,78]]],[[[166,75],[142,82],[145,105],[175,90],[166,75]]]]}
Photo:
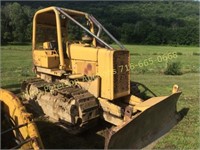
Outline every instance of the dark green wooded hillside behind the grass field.
{"type": "Polygon", "coordinates": [[[2,2],[1,43],[31,42],[34,13],[52,5],[93,14],[125,44],[199,44],[199,2],[196,1],[2,2]]]}

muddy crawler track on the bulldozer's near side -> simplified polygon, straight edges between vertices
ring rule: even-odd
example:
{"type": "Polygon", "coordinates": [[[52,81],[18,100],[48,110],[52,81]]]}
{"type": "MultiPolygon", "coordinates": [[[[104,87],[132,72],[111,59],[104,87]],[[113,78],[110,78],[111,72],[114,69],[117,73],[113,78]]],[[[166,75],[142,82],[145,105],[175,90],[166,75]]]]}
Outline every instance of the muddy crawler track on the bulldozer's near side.
{"type": "Polygon", "coordinates": [[[99,118],[97,99],[80,87],[32,78],[22,83],[21,90],[36,112],[43,112],[64,127],[81,132],[93,126],[99,118]]]}

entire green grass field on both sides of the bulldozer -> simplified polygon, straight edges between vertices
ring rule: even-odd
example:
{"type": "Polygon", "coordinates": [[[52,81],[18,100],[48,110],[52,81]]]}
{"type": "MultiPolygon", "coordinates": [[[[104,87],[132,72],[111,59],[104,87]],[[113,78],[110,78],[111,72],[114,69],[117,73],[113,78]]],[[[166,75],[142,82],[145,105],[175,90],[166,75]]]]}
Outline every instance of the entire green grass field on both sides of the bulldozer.
{"type": "MultiPolygon", "coordinates": [[[[154,148],[199,149],[199,48],[138,45],[126,45],[125,47],[130,50],[131,62],[137,64],[131,70],[132,80],[144,83],[157,95],[169,95],[173,84],[178,84],[183,92],[177,109],[183,110],[184,118],[160,139],[154,148]],[[176,57],[169,57],[174,53],[176,57]],[[183,75],[164,75],[163,72],[169,61],[180,62],[183,75]]],[[[20,83],[34,76],[31,69],[31,46],[1,46],[2,88],[18,92],[20,83]]]]}

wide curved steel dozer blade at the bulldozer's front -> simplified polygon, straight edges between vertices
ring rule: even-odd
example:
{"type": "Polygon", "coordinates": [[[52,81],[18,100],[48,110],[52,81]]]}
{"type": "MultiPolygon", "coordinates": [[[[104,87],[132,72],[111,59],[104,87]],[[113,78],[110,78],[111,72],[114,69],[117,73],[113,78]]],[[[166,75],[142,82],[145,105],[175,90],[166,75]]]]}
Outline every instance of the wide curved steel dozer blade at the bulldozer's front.
{"type": "Polygon", "coordinates": [[[107,130],[105,149],[141,149],[167,133],[178,122],[176,103],[180,94],[153,97],[137,105],[139,114],[107,130]]]}

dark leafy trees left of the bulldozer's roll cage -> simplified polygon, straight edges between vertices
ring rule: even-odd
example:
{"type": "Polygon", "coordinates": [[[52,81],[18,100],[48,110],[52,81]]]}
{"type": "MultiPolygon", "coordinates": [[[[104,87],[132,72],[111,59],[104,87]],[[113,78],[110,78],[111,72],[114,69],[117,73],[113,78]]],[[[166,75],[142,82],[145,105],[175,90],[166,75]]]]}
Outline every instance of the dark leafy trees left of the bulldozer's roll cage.
{"type": "Polygon", "coordinates": [[[30,41],[33,10],[29,6],[21,6],[15,2],[6,4],[1,11],[3,42],[30,41]]]}

